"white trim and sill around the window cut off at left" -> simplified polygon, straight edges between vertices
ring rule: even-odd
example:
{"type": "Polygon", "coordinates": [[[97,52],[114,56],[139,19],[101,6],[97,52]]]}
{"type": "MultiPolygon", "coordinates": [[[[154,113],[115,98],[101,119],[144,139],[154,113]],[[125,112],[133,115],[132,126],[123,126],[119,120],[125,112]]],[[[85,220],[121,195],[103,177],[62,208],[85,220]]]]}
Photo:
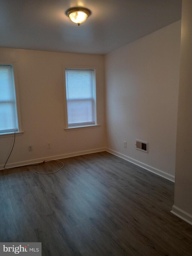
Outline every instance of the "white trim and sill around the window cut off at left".
{"type": "MultiPolygon", "coordinates": [[[[15,101],[16,101],[16,121],[18,124],[18,131],[15,132],[16,136],[17,134],[20,136],[23,134],[22,132],[22,126],[21,126],[21,114],[20,114],[20,104],[19,104],[19,89],[18,89],[18,79],[17,79],[17,65],[15,62],[10,61],[2,61],[0,62],[0,65],[10,65],[12,66],[13,70],[13,84],[14,84],[14,95],[15,95],[15,101]]],[[[0,133],[0,137],[11,137],[14,136],[14,132],[5,132],[0,133]]]]}

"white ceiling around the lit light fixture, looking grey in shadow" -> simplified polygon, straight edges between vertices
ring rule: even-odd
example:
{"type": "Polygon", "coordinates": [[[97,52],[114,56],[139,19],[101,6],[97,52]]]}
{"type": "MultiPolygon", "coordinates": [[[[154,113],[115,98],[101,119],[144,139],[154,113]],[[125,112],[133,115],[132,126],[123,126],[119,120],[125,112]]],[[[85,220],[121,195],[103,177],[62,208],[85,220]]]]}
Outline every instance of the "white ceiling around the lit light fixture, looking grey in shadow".
{"type": "Polygon", "coordinates": [[[181,19],[182,0],[1,0],[0,47],[106,54],[181,19]],[[84,6],[79,27],[65,11],[84,6]]]}

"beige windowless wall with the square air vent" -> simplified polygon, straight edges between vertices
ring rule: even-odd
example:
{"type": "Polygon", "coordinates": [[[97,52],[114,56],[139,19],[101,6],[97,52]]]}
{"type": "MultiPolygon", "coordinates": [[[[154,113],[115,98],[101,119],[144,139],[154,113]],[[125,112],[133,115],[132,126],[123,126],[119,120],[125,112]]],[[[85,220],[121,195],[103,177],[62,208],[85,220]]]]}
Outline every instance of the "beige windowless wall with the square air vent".
{"type": "Polygon", "coordinates": [[[105,58],[108,148],[170,179],[175,175],[180,37],[178,21],[105,58]],[[149,142],[149,153],[136,150],[135,139],[149,142]]]}

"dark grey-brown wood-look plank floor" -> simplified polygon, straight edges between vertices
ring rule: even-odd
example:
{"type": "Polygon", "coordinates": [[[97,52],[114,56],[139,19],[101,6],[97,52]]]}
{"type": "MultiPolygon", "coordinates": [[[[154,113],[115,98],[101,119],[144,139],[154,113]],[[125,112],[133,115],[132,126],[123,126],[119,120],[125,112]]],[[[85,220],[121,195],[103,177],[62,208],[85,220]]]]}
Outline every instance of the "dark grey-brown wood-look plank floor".
{"type": "Polygon", "coordinates": [[[42,255],[192,255],[192,226],[170,213],[174,183],[107,152],[60,167],[0,171],[0,242],[42,255]]]}

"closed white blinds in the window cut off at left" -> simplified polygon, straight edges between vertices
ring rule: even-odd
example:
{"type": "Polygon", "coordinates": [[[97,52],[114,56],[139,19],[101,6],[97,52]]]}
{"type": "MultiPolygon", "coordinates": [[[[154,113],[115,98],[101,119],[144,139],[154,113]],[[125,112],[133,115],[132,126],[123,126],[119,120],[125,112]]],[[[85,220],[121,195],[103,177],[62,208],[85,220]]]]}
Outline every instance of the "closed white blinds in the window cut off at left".
{"type": "Polygon", "coordinates": [[[0,133],[17,130],[13,69],[0,65],[0,133]]]}

